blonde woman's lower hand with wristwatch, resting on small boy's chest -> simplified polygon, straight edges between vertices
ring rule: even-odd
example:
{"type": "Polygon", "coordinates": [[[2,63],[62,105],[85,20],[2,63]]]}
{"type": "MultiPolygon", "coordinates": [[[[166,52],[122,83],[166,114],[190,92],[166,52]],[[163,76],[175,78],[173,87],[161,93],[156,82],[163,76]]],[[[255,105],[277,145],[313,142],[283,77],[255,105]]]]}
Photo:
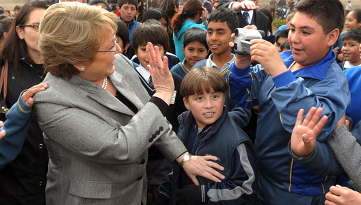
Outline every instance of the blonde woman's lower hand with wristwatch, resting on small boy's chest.
{"type": "MultiPolygon", "coordinates": [[[[184,154],[183,154],[184,155],[184,154]]],[[[183,155],[178,157],[177,161],[180,163],[183,159],[183,155]]],[[[217,161],[217,156],[191,156],[191,159],[184,163],[183,169],[185,173],[191,178],[195,185],[199,185],[199,182],[196,176],[202,176],[204,178],[208,178],[209,180],[213,180],[215,182],[221,182],[219,178],[224,179],[224,176],[217,172],[215,169],[224,170],[224,167],[213,162],[217,161]]]]}

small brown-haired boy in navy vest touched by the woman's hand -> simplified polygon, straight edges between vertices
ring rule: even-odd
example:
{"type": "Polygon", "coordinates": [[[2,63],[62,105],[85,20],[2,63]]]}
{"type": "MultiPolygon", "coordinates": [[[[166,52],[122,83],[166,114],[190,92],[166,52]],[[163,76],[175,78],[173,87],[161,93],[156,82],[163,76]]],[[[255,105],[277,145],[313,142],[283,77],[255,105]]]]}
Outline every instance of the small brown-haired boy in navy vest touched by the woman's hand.
{"type": "MultiPolygon", "coordinates": [[[[178,117],[178,137],[189,154],[212,154],[224,166],[225,179],[212,182],[198,177],[194,185],[181,165],[174,165],[161,184],[158,204],[252,204],[256,191],[253,148],[250,138],[232,120],[224,106],[228,85],[213,68],[194,69],[181,83],[189,111],[178,117]]],[[[187,161],[185,161],[187,163],[187,161]]]]}

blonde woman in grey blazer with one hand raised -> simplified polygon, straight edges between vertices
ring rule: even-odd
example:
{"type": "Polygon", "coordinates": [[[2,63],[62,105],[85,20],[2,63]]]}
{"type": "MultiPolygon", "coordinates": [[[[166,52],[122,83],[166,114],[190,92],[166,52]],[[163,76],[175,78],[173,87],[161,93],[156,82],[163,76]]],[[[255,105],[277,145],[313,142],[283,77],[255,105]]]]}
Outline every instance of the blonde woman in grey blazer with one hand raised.
{"type": "Polygon", "coordinates": [[[49,150],[46,204],[146,204],[148,148],[196,175],[219,181],[215,156],[189,156],[164,113],[174,84],[159,48],[147,53],[150,98],[131,62],[117,54],[116,15],[95,6],[51,5],[40,23],[49,88],[36,115],[49,150]],[[188,158],[189,156],[189,158],[188,158]],[[184,157],[184,159],[183,159],[184,157]],[[216,178],[216,176],[218,178],[216,178]]]}

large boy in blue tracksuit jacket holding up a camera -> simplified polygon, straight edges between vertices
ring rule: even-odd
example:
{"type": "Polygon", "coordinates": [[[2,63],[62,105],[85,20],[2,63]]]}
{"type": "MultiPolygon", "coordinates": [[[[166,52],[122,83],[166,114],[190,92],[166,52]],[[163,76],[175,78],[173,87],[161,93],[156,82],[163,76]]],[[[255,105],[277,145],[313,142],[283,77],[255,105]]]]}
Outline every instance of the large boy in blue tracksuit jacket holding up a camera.
{"type": "Polygon", "coordinates": [[[259,105],[254,150],[260,204],[324,204],[343,173],[326,143],[350,102],[347,79],[331,49],[343,30],[343,5],[303,0],[294,10],[291,51],[278,53],[273,44],[252,40],[251,55],[237,55],[230,74],[231,98],[242,107],[259,105]],[[317,152],[295,156],[289,146],[296,115],[311,107],[322,107],[328,121],[317,137],[317,152]]]}

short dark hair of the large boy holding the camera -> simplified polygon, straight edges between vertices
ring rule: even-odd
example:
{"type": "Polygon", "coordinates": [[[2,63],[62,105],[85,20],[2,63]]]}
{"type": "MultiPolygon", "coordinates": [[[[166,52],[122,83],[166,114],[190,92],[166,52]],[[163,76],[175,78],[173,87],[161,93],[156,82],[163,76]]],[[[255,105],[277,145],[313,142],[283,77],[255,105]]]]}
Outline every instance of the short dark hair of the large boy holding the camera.
{"type": "Polygon", "coordinates": [[[303,0],[295,6],[294,10],[314,18],[325,34],[334,29],[340,32],[343,30],[345,12],[340,0],[303,0]]]}

